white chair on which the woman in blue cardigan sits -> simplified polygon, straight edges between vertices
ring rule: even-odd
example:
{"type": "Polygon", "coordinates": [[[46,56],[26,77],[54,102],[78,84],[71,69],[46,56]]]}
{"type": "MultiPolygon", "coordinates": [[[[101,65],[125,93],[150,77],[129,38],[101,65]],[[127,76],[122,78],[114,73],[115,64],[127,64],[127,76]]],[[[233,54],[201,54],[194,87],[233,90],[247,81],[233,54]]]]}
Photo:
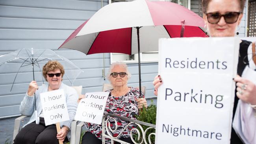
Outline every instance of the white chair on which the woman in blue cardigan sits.
{"type": "MultiPolygon", "coordinates": [[[[78,95],[80,95],[82,93],[82,85],[80,86],[73,86],[72,88],[74,88],[77,92],[78,95]]],[[[14,121],[14,129],[13,129],[13,140],[15,139],[15,137],[17,136],[17,134],[20,131],[20,122],[21,120],[23,120],[24,118],[26,118],[28,116],[20,116],[19,118],[16,118],[14,121]]],[[[70,144],[74,144],[75,142],[75,135],[76,135],[76,123],[77,121],[74,120],[71,123],[71,131],[70,131],[70,144]]],[[[13,142],[13,141],[12,141],[13,142]]]]}

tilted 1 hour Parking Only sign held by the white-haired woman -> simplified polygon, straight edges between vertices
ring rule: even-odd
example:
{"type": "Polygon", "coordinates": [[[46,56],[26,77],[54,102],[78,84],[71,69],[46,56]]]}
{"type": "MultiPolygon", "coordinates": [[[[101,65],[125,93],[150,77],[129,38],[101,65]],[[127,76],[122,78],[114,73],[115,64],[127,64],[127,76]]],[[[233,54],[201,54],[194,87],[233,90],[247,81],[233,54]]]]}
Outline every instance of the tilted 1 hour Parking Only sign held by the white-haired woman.
{"type": "Polygon", "coordinates": [[[76,109],[75,120],[101,124],[109,92],[87,92],[76,109]]]}

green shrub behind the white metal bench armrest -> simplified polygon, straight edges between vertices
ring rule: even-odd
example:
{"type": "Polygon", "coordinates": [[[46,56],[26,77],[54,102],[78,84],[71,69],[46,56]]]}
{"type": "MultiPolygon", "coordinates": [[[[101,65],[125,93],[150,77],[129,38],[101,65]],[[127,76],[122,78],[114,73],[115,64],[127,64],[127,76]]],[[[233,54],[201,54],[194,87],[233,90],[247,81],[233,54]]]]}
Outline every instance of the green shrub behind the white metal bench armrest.
{"type": "MultiPolygon", "coordinates": [[[[154,124],[154,125],[156,124],[156,105],[154,105],[153,100],[151,100],[151,104],[148,105],[147,108],[143,106],[143,108],[139,111],[137,120],[142,121],[142,122],[147,122],[150,124],[154,124]]],[[[148,126],[143,126],[143,125],[141,125],[141,126],[143,127],[144,131],[145,131],[145,129],[148,128],[148,126]]],[[[139,127],[137,127],[137,129],[139,129],[139,127]]],[[[139,131],[140,131],[140,129],[139,129],[139,131]]],[[[140,131],[140,133],[141,133],[141,131],[140,131]]],[[[147,143],[149,143],[148,135],[150,133],[155,133],[155,129],[148,129],[148,131],[146,133],[147,143]]],[[[135,141],[137,140],[137,138],[138,138],[138,135],[137,134],[134,135],[135,141]]],[[[141,140],[142,140],[142,135],[140,136],[140,140],[137,142],[141,142],[141,140]]],[[[152,144],[154,144],[155,143],[155,135],[151,135],[150,140],[151,140],[152,144]]],[[[145,143],[143,142],[143,144],[145,144],[145,143]]]]}

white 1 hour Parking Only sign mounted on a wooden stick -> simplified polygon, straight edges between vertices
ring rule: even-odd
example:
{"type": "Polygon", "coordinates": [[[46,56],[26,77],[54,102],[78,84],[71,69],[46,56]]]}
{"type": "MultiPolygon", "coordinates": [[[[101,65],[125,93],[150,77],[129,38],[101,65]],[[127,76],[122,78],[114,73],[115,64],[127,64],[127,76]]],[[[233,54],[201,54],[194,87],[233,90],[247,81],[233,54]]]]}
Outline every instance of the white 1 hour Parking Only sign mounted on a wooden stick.
{"type": "Polygon", "coordinates": [[[43,92],[40,94],[40,99],[46,126],[69,120],[66,96],[63,89],[43,92]]]}

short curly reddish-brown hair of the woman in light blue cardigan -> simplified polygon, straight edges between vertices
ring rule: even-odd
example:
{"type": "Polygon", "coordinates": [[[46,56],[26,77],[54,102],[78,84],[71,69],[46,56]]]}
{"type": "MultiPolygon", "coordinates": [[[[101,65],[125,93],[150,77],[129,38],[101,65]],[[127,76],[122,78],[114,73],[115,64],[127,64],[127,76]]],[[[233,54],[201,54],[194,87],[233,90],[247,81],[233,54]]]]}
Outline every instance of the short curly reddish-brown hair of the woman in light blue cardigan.
{"type": "Polygon", "coordinates": [[[47,81],[47,79],[46,79],[47,72],[54,71],[56,69],[60,70],[60,72],[61,72],[61,81],[63,80],[63,76],[65,74],[65,70],[64,70],[63,66],[58,61],[48,61],[43,66],[43,76],[44,76],[46,81],[47,81]]]}

